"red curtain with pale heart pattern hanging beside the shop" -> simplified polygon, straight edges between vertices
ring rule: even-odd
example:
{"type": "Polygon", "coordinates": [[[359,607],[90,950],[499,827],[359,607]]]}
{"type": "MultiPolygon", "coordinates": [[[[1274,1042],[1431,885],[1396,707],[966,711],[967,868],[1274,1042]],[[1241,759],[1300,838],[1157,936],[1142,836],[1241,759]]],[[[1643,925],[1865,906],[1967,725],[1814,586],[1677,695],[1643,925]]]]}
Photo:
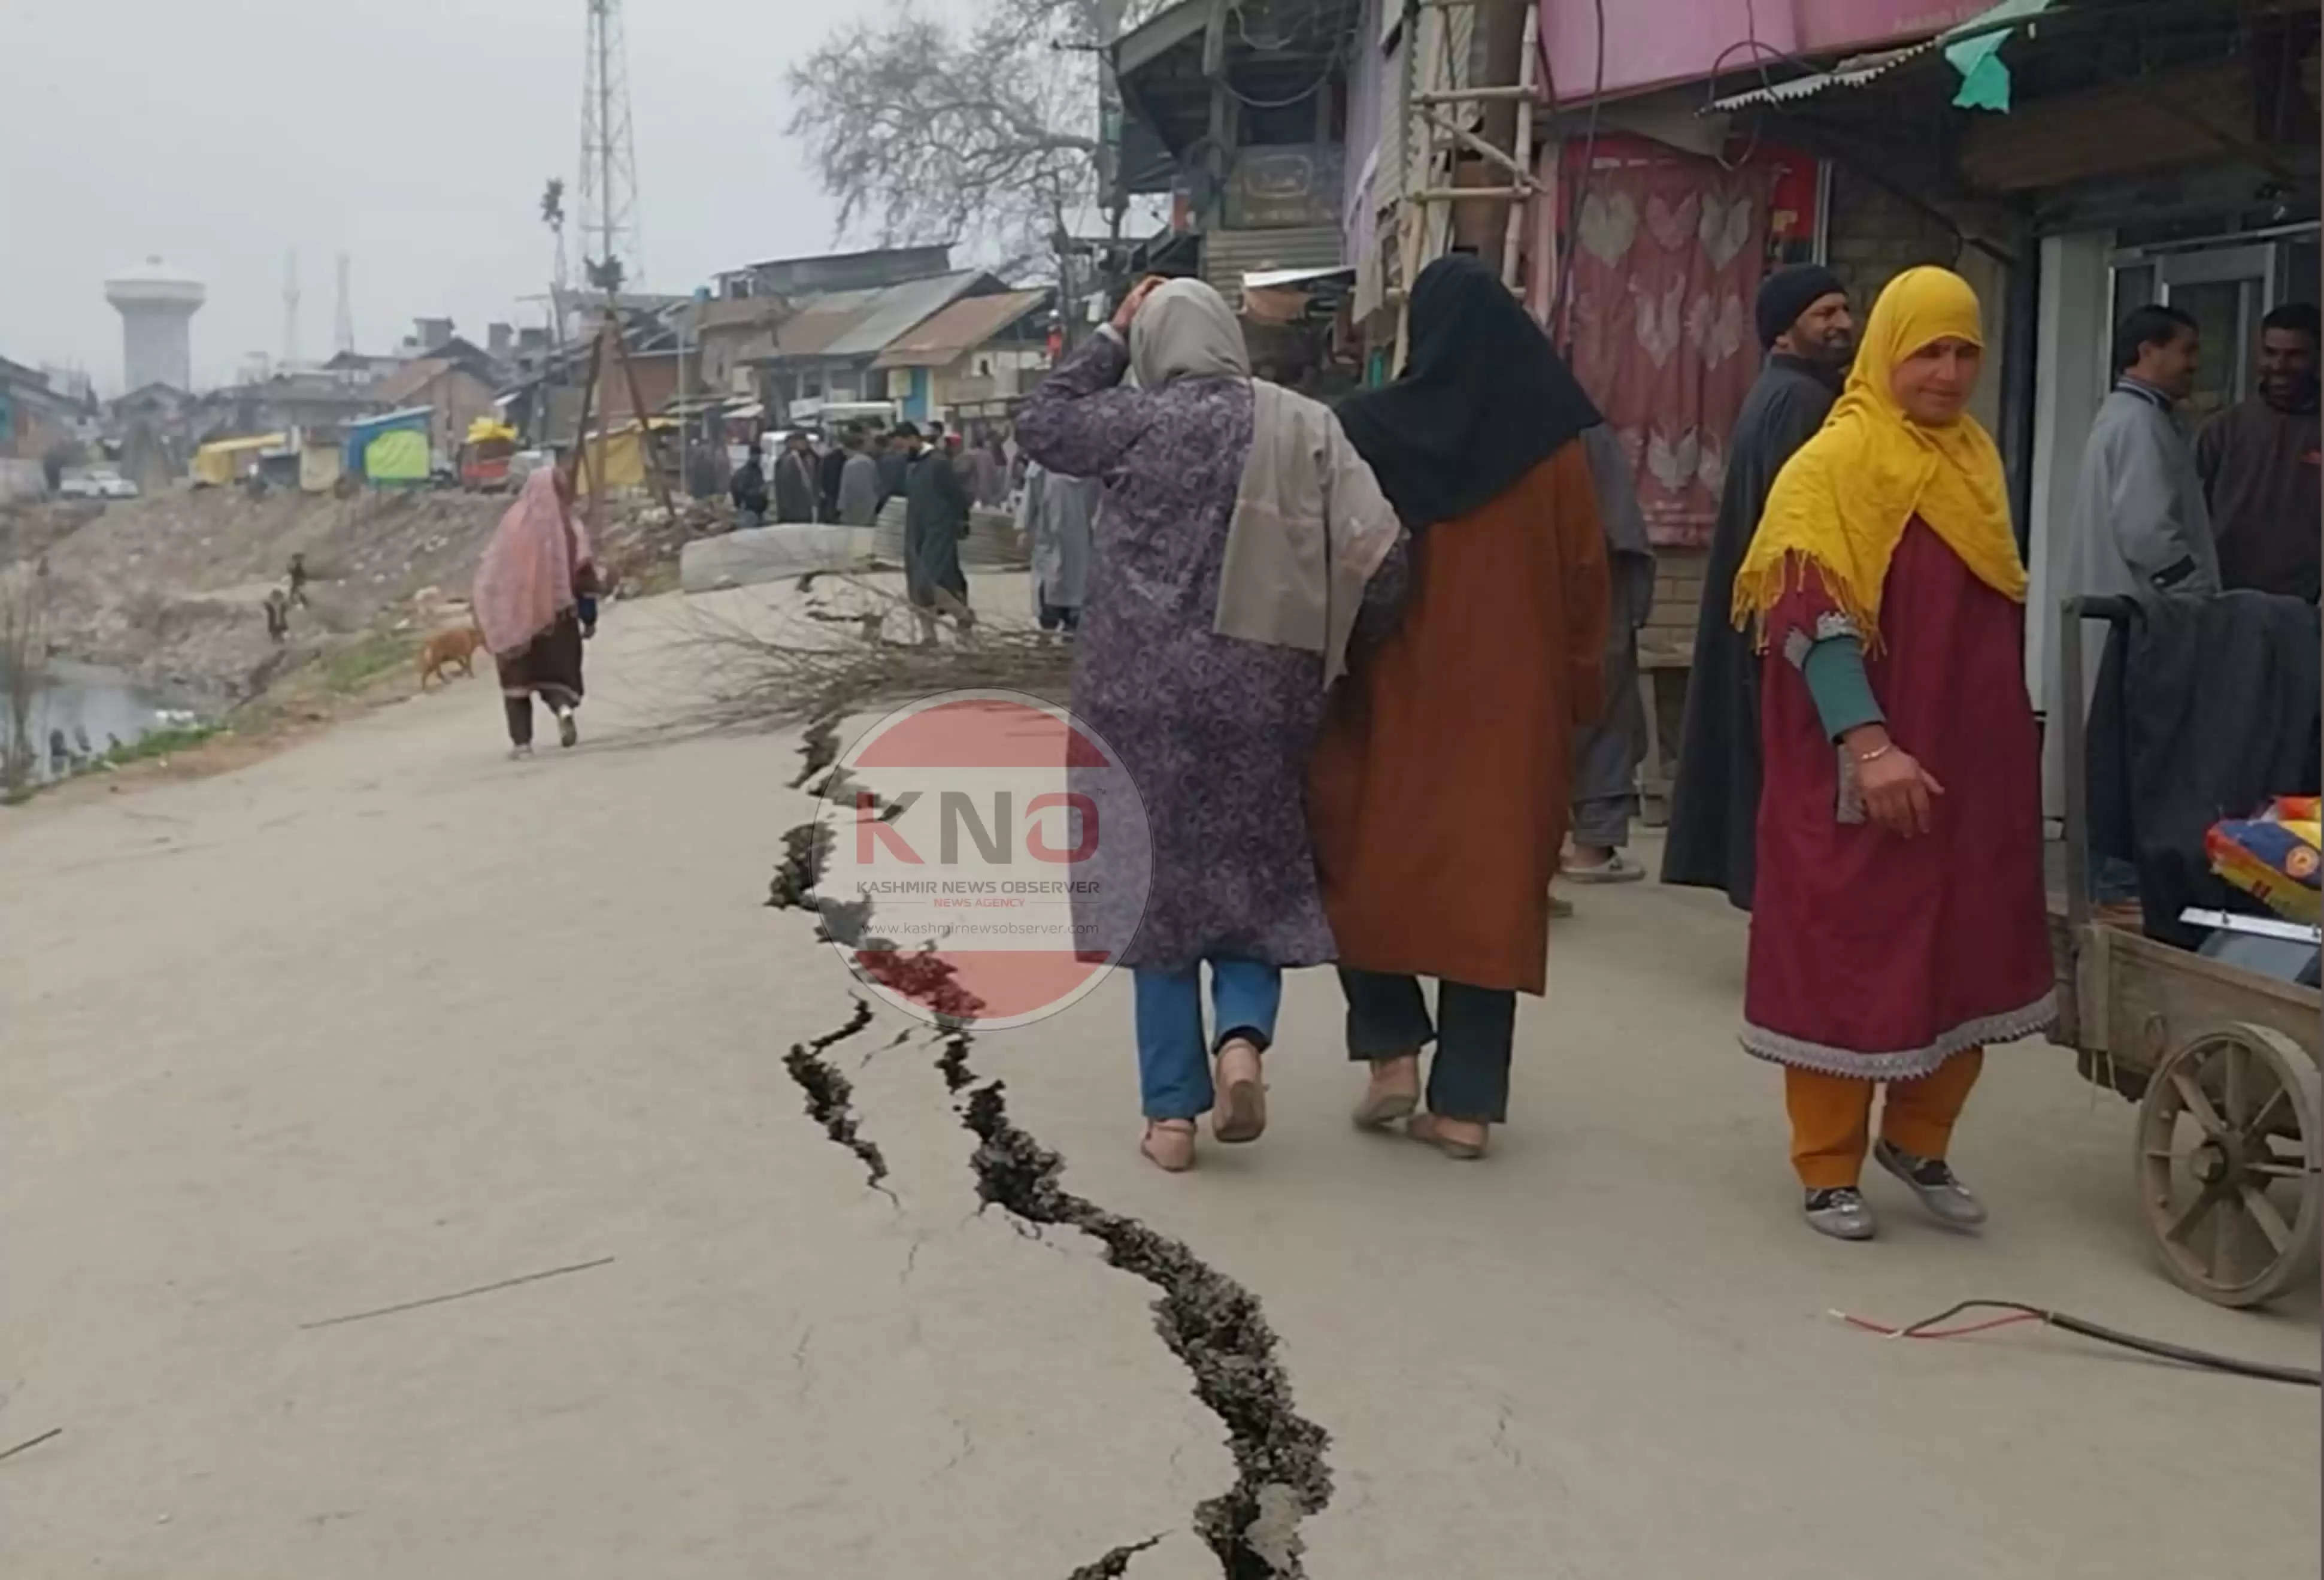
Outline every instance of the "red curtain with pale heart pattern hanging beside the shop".
{"type": "MultiPolygon", "coordinates": [[[[1580,163],[1562,177],[1580,181],[1580,163]]],[[[1727,437],[1759,374],[1752,300],[1773,179],[1764,165],[1722,170],[1624,144],[1599,146],[1583,186],[1569,251],[1573,374],[1629,451],[1659,546],[1710,541],[1727,437]]]]}

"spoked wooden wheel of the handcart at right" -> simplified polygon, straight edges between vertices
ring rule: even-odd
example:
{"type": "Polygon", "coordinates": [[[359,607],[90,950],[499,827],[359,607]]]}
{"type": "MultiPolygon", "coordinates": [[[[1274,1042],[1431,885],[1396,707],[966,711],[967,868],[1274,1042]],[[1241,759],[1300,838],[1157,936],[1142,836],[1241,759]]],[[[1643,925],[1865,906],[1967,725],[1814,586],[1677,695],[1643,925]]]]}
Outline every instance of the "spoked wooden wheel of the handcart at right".
{"type": "Polygon", "coordinates": [[[2219,1306],[2259,1306],[2308,1276],[2324,1208],[2315,1060],[2236,1022],[2154,1071],[2138,1106],[2138,1201],[2164,1271],[2219,1306]]]}

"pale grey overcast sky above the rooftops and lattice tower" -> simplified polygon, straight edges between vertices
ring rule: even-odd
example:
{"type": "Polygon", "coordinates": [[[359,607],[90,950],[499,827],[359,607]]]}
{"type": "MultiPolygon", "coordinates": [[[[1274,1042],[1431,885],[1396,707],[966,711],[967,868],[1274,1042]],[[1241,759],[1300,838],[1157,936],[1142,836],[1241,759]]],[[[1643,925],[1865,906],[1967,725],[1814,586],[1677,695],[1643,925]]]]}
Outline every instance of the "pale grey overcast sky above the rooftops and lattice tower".
{"type": "MultiPolygon", "coordinates": [[[[644,286],[827,251],[834,204],[783,135],[783,67],[853,5],[630,0],[644,286]]],[[[541,184],[581,144],[583,0],[0,0],[0,356],[121,383],[114,270],[160,253],[209,288],[195,381],[330,356],[337,256],[356,342],[416,316],[483,339],[541,321],[541,184]]]]}

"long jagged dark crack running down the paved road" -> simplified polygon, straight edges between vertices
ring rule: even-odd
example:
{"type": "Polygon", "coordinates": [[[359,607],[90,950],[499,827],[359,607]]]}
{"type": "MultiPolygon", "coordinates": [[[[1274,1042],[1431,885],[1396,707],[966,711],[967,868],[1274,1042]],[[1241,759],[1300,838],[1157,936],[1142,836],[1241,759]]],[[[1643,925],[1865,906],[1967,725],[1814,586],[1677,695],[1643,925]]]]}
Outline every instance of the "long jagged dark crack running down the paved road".
{"type": "MultiPolygon", "coordinates": [[[[792,781],[795,788],[837,760],[839,713],[818,718],[799,751],[806,767],[792,781]]],[[[853,790],[846,771],[832,769],[811,795],[853,790]]],[[[1276,1334],[1260,1310],[1260,1299],[1197,1257],[1183,1241],[1060,1185],[1064,1159],[1009,1118],[1002,1080],[985,1080],[969,1066],[974,1034],[964,1020],[974,1018],[981,1004],[957,985],[951,962],[932,946],[897,950],[890,939],[871,934],[867,902],[839,904],[816,895],[827,846],[830,832],[820,823],[790,830],[783,836],[783,860],[769,883],[767,904],[779,911],[809,911],[816,915],[820,939],[855,950],[874,981],[930,1006],[939,1018],[944,1036],[937,1071],[962,1127],[976,1136],[969,1169],[985,1206],[999,1206],[1025,1224],[1081,1229],[1104,1245],[1111,1266],[1160,1290],[1153,1304],[1155,1331],[1192,1373],[1195,1396],[1227,1429],[1227,1450],[1234,1457],[1234,1485],[1195,1506],[1195,1534],[1218,1557],[1225,1580],[1304,1580],[1299,1522],[1322,1513],[1332,1501],[1332,1468],[1325,1459],[1329,1434],[1294,1408],[1290,1376],[1276,1357],[1276,1334]]],[[[834,1043],[855,1036],[869,1022],[871,1006],[858,997],[855,1013],[844,1025],[795,1043],[783,1064],[806,1092],[809,1118],[862,1159],[871,1187],[885,1192],[885,1159],[860,1132],[851,1083],[825,1057],[834,1043]]],[[[1129,1559],[1155,1541],[1116,1547],[1095,1564],[1076,1568],[1069,1580],[1118,1580],[1127,1573],[1129,1559]]]]}

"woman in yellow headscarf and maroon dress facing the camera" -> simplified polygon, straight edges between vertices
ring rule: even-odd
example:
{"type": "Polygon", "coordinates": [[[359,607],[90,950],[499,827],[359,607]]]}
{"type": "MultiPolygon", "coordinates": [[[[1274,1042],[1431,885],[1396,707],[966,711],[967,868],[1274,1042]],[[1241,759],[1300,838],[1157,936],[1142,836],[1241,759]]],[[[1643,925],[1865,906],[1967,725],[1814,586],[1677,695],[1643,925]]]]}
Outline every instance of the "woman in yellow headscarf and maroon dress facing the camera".
{"type": "Polygon", "coordinates": [[[2027,576],[1968,416],[1978,297],[1906,270],[1848,390],[1776,479],[1736,574],[1764,646],[1759,892],[1743,1046],[1785,1066],[1808,1222],[1871,1238],[1873,1157],[1952,1227],[1945,1162],[1985,1046],[2054,1015],[2027,576]]]}

